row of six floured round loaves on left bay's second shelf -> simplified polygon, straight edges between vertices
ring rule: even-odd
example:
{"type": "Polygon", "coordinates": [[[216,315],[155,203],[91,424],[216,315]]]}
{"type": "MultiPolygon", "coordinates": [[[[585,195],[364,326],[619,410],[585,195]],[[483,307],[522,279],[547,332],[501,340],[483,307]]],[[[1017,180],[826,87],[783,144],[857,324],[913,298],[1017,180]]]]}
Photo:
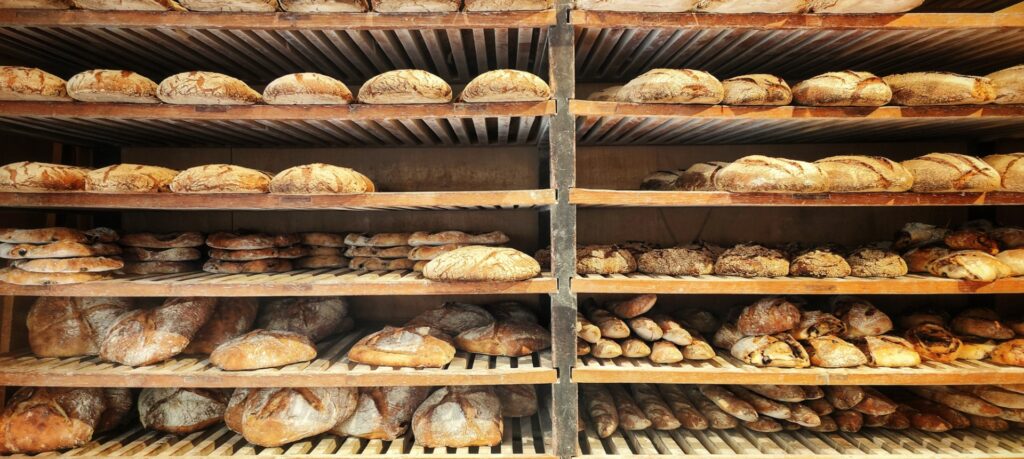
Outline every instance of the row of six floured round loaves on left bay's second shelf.
{"type": "MultiPolygon", "coordinates": [[[[496,70],[470,81],[459,95],[464,102],[539,101],[551,98],[551,88],[534,74],[496,70]]],[[[344,83],[314,73],[291,74],[273,80],[260,94],[245,82],[213,72],[185,72],[159,85],[122,70],[90,70],[67,82],[39,69],[0,67],[0,100],[41,100],[186,106],[338,106],[355,101],[344,83]]],[[[359,88],[358,102],[370,105],[449,103],[452,87],[422,70],[396,70],[371,78],[359,88]]]]}

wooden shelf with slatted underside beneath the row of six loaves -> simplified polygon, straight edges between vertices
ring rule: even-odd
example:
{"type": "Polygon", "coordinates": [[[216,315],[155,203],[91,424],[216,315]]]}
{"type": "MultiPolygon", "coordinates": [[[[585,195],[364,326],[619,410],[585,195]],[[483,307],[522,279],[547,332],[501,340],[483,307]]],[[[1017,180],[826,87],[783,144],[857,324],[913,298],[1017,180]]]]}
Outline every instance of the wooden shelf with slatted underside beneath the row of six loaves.
{"type": "Polygon", "coordinates": [[[0,130],[80,144],[436,147],[531,144],[555,101],[408,106],[0,102],[0,130]]]}

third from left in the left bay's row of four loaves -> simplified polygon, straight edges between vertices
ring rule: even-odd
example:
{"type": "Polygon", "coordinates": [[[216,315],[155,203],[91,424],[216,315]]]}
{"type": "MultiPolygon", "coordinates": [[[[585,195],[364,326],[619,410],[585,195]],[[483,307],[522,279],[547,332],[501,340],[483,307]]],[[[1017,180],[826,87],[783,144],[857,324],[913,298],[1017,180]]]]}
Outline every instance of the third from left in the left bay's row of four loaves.
{"type": "Polygon", "coordinates": [[[174,193],[268,193],[269,189],[270,174],[230,164],[185,169],[171,181],[174,193]]]}

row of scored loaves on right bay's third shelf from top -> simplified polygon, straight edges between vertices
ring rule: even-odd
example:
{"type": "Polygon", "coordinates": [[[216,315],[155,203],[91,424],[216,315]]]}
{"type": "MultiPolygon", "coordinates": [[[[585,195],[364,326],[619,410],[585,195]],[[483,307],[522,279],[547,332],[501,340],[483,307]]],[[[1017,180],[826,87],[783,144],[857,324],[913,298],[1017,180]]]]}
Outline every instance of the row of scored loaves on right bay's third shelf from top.
{"type": "Polygon", "coordinates": [[[834,156],[813,163],[748,156],[654,172],[641,190],[730,193],[985,193],[1024,192],[1024,153],[975,158],[932,153],[898,163],[870,156],[834,156]]]}

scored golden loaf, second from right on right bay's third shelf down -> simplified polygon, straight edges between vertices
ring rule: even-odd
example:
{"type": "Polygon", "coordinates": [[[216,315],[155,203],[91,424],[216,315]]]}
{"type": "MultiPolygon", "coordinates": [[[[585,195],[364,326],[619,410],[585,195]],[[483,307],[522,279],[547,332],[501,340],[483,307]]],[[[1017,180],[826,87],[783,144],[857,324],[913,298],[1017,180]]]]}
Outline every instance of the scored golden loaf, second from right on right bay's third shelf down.
{"type": "Polygon", "coordinates": [[[913,174],[915,193],[994,192],[999,173],[979,158],[953,153],[931,153],[904,161],[913,174]]]}

